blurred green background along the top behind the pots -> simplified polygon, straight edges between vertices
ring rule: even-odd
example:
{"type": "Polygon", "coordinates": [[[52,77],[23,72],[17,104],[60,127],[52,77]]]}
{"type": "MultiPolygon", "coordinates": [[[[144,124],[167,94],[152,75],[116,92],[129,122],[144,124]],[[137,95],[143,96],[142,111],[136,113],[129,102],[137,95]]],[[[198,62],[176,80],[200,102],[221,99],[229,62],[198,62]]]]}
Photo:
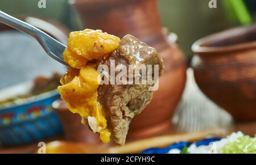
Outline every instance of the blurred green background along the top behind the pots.
{"type": "MultiPolygon", "coordinates": [[[[39,9],[38,1],[1,0],[0,10],[14,16],[39,16],[57,20],[69,30],[84,28],[68,0],[46,0],[46,9],[39,9]]],[[[209,1],[158,1],[163,27],[179,36],[179,45],[188,59],[192,56],[191,45],[195,40],[222,29],[250,24],[255,20],[255,0],[217,0],[217,9],[210,9],[209,1]]]]}

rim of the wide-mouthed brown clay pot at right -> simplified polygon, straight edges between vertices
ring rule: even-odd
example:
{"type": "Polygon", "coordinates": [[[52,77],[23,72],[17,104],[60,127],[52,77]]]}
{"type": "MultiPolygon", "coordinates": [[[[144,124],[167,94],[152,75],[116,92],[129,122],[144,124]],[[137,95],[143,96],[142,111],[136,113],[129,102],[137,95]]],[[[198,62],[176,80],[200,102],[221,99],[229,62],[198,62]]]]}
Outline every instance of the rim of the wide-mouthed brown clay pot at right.
{"type": "Polygon", "coordinates": [[[203,46],[210,43],[214,43],[217,41],[227,40],[232,37],[239,37],[242,35],[250,35],[250,33],[256,34],[256,24],[247,27],[237,27],[228,29],[226,31],[214,33],[213,35],[209,35],[207,37],[203,37],[202,39],[197,40],[192,45],[192,51],[198,54],[212,54],[212,53],[228,53],[228,52],[236,52],[239,50],[245,49],[255,49],[256,48],[256,39],[255,41],[247,41],[244,43],[238,44],[230,44],[223,46],[203,46]]]}

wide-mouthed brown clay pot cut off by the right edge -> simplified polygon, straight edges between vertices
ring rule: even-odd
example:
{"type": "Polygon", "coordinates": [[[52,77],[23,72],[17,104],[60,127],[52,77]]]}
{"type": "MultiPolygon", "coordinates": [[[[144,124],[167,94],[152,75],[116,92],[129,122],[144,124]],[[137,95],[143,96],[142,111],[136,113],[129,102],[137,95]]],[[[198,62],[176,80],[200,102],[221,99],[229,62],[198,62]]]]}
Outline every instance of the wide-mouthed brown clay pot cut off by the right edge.
{"type": "Polygon", "coordinates": [[[256,120],[256,24],[196,41],[192,66],[200,89],[236,120],[256,120]]]}

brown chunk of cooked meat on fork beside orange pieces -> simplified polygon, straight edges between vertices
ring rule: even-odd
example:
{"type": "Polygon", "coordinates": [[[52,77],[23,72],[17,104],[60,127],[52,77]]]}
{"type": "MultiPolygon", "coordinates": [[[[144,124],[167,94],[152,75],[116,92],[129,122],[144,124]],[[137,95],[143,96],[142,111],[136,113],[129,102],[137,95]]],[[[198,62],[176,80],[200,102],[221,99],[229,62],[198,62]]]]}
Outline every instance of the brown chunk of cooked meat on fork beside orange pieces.
{"type": "MultiPolygon", "coordinates": [[[[127,68],[134,64],[159,65],[159,76],[163,74],[163,60],[156,50],[131,35],[123,37],[118,49],[104,62],[109,70],[110,60],[115,61],[115,66],[122,64],[127,68]]],[[[152,91],[148,87],[148,84],[102,84],[98,88],[98,101],[105,108],[108,129],[117,145],[125,144],[131,119],[150,103],[152,91]]]]}

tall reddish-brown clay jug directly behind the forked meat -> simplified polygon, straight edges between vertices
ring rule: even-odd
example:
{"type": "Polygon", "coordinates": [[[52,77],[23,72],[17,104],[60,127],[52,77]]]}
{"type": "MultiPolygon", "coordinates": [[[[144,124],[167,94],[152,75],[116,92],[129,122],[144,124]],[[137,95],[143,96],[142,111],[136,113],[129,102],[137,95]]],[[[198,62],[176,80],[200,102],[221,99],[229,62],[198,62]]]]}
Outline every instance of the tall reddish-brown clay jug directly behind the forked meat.
{"type": "Polygon", "coordinates": [[[185,84],[185,60],[175,41],[162,33],[156,0],[76,0],[72,4],[86,28],[112,35],[134,35],[156,48],[164,60],[159,89],[144,111],[130,124],[127,139],[138,139],[170,131],[171,117],[185,84]]]}

